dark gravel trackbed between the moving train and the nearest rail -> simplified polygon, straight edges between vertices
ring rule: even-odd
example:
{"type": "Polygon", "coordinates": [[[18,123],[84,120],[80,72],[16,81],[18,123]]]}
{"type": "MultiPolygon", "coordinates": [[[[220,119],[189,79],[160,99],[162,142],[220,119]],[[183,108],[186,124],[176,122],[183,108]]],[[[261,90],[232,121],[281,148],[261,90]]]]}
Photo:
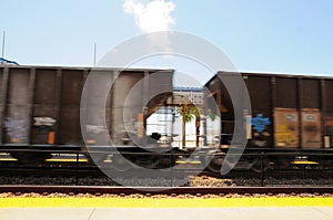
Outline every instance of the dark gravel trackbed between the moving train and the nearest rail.
{"type": "Polygon", "coordinates": [[[142,176],[135,170],[102,174],[97,167],[77,169],[70,167],[11,167],[0,169],[0,185],[44,185],[50,186],[131,186],[131,187],[272,187],[272,186],[333,186],[332,170],[266,170],[253,172],[232,170],[219,176],[195,170],[173,170],[161,172],[159,178],[142,176]],[[119,181],[120,180],[120,181],[119,181]],[[120,184],[119,184],[120,182],[120,184]]]}

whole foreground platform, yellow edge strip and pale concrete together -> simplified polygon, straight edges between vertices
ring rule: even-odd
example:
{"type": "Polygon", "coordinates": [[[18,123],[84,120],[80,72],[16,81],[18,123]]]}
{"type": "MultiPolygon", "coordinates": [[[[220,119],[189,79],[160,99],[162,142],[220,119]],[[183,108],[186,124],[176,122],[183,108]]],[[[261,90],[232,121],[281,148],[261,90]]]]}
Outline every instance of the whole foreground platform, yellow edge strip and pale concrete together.
{"type": "Polygon", "coordinates": [[[0,220],[333,220],[333,198],[0,198],[0,220]]]}

